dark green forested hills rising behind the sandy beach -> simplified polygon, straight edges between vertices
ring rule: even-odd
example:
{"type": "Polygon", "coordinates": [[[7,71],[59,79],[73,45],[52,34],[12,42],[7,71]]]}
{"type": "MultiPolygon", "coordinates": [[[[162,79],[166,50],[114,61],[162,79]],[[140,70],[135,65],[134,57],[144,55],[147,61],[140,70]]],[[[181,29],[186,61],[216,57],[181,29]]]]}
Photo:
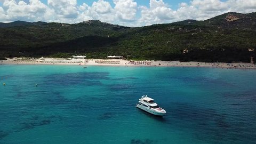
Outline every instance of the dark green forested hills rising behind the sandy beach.
{"type": "Polygon", "coordinates": [[[0,57],[85,54],[88,58],[123,55],[129,59],[250,62],[251,57],[256,60],[255,53],[256,12],[135,28],[98,20],[0,23],[0,57]]]}

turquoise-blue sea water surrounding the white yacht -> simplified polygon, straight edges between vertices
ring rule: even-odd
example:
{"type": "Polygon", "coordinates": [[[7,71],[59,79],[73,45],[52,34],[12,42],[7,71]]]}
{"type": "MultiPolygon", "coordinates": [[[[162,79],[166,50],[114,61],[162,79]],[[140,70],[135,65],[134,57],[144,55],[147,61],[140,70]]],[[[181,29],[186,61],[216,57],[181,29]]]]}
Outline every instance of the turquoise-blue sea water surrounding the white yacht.
{"type": "Polygon", "coordinates": [[[1,65],[0,82],[1,144],[256,142],[255,70],[1,65]]]}

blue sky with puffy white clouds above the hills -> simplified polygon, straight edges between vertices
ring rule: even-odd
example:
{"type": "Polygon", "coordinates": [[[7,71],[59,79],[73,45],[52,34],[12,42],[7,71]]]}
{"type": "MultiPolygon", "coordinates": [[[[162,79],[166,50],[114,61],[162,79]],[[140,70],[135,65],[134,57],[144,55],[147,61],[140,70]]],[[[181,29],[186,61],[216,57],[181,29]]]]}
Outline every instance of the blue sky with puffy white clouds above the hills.
{"type": "Polygon", "coordinates": [[[206,20],[227,12],[256,12],[256,0],[0,0],[0,22],[100,20],[140,27],[206,20]]]}

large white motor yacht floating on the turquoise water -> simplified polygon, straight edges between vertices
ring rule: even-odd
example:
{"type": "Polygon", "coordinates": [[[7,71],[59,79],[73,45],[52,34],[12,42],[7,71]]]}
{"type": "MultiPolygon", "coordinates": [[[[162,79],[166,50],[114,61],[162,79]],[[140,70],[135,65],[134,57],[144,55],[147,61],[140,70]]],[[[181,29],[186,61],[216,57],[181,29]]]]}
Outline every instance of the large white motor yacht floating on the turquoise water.
{"type": "Polygon", "coordinates": [[[147,95],[143,95],[141,99],[139,99],[139,103],[136,105],[137,108],[147,111],[150,114],[163,116],[166,114],[166,111],[159,107],[154,99],[149,98],[147,95]]]}

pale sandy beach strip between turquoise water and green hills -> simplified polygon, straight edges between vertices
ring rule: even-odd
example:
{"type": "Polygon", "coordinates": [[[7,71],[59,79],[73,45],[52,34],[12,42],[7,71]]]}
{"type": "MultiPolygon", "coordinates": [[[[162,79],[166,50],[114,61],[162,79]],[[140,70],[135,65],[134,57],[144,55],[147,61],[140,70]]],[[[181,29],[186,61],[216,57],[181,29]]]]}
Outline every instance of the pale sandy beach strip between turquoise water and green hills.
{"type": "Polygon", "coordinates": [[[227,69],[256,69],[256,65],[251,63],[223,63],[223,62],[180,62],[180,61],[133,61],[123,59],[63,59],[63,58],[8,58],[0,61],[5,64],[30,64],[30,65],[81,65],[81,66],[126,66],[126,67],[212,67],[227,69]]]}

